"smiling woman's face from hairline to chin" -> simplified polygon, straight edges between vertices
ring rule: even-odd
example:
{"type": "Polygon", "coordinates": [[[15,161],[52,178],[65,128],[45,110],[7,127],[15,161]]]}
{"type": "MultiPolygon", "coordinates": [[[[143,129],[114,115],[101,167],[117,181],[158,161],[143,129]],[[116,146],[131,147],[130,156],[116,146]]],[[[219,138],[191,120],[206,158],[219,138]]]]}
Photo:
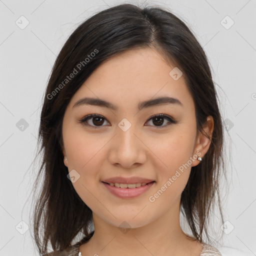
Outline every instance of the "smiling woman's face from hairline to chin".
{"type": "Polygon", "coordinates": [[[203,153],[197,144],[193,99],[174,67],[155,50],[128,50],[102,63],[66,108],[64,164],[94,216],[112,225],[125,221],[139,227],[178,210],[191,166],[203,153]],[[85,97],[107,101],[108,107],[89,104],[85,97]],[[156,100],[161,97],[170,99],[156,100]],[[96,116],[85,120],[89,114],[96,116]],[[164,116],[152,118],[155,114],[164,116]],[[135,176],[138,179],[125,180],[135,176]]]}

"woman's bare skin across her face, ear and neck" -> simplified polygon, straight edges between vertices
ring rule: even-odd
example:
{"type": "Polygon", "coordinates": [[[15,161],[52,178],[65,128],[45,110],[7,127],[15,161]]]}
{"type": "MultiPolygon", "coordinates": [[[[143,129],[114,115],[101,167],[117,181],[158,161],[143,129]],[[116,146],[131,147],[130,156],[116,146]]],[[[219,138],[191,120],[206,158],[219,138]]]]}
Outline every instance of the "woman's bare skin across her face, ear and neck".
{"type": "MultiPolygon", "coordinates": [[[[68,104],[62,124],[64,164],[80,177],[74,189],[93,212],[94,235],[80,245],[85,255],[194,255],[202,244],[192,240],[180,228],[180,195],[187,183],[195,159],[167,189],[149,201],[169,177],[196,152],[207,152],[210,140],[196,132],[195,108],[184,77],[174,80],[166,63],[155,49],[125,51],[104,61],[83,83],[68,104]],[[83,97],[98,97],[118,106],[73,104],[83,97]],[[164,104],[138,110],[140,101],[158,96],[177,98],[178,104],[164,104]],[[87,126],[79,120],[88,114],[100,114],[87,126]],[[159,126],[154,114],[165,114],[159,126]],[[126,118],[131,127],[123,131],[118,123],[126,118]],[[169,125],[167,125],[169,123],[169,125]],[[92,126],[98,128],[93,128],[92,126]],[[101,126],[100,126],[101,125],[101,126]],[[123,199],[112,195],[101,180],[113,176],[140,176],[156,182],[145,193],[123,199]],[[123,221],[126,221],[123,223],[123,221]],[[122,232],[119,227],[129,228],[122,232]],[[95,254],[97,253],[97,254],[95,254]]],[[[213,118],[207,117],[205,131],[211,135],[213,118]]]]}

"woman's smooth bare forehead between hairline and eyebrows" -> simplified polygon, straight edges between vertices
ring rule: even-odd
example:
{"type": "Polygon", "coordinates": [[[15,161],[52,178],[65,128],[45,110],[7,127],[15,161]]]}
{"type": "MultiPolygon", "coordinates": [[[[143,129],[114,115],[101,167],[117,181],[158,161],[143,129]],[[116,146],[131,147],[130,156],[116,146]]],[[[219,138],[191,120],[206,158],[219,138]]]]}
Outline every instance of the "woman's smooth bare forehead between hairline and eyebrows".
{"type": "Polygon", "coordinates": [[[120,108],[160,96],[178,98],[184,105],[193,104],[181,71],[151,48],[127,50],[103,61],[70,103],[73,105],[84,96],[105,99],[120,108]]]}

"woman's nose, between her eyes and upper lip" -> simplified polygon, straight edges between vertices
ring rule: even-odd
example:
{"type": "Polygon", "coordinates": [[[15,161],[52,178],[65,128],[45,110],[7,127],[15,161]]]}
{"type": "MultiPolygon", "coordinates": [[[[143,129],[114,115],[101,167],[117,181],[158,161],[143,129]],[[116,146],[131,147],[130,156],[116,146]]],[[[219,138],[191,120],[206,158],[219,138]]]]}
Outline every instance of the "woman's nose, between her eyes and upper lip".
{"type": "Polygon", "coordinates": [[[108,161],[114,165],[131,168],[146,161],[146,145],[142,135],[131,125],[127,130],[120,125],[109,143],[108,161]],[[120,128],[121,127],[121,128],[120,128]]]}

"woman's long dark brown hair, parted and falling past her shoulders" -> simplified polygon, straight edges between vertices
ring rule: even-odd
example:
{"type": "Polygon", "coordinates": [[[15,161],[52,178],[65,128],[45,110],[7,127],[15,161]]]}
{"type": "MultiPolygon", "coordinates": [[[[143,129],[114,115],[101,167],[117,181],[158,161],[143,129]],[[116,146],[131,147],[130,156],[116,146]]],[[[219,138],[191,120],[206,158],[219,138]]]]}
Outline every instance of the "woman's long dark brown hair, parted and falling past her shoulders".
{"type": "Polygon", "coordinates": [[[72,244],[79,231],[83,234],[81,242],[93,234],[89,233],[91,209],[74,190],[63,163],[61,126],[66,106],[104,60],[139,47],[156,49],[183,72],[195,104],[197,131],[203,132],[208,115],[214,120],[210,147],[203,160],[191,168],[181,194],[180,210],[193,237],[202,241],[205,233],[208,238],[206,223],[216,199],[221,213],[219,176],[223,164],[223,125],[207,57],[187,25],[169,10],[121,4],[96,13],[72,32],[48,80],[38,137],[37,156],[42,153],[42,162],[33,188],[39,189],[33,211],[33,232],[40,254],[47,252],[48,242],[53,250],[63,250],[72,244]],[[70,73],[75,75],[67,79],[70,73]],[[40,185],[39,178],[42,179],[40,185]]]}

